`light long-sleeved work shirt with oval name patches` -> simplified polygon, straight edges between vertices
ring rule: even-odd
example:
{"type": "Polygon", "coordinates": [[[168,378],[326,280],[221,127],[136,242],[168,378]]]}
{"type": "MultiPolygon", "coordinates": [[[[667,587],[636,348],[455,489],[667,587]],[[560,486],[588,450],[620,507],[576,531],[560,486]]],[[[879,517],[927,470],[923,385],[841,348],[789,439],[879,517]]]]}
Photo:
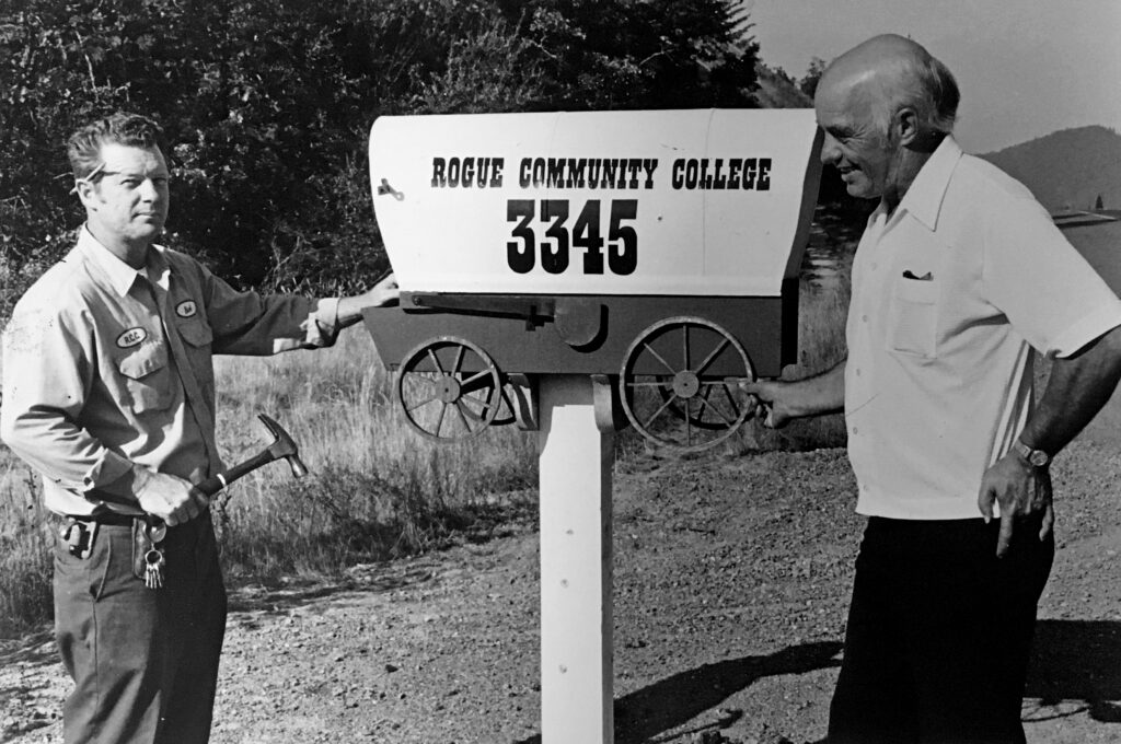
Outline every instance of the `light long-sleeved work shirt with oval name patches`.
{"type": "Polygon", "coordinates": [[[152,247],[139,271],[85,229],[16,305],[3,336],[0,436],[61,514],[103,509],[133,465],[198,481],[222,469],[212,354],[326,346],[337,299],[237,291],[152,247]]]}

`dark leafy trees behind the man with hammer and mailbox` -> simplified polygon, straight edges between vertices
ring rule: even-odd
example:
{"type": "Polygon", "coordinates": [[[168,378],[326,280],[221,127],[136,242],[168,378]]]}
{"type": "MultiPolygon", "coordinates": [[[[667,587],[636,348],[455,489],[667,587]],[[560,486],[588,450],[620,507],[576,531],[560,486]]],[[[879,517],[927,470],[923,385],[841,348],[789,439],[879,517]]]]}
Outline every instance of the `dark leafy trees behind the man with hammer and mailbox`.
{"type": "Polygon", "coordinates": [[[0,316],[68,248],[71,131],[131,110],[170,142],[168,244],[242,286],[386,268],[382,113],[754,105],[725,0],[0,0],[0,316]]]}

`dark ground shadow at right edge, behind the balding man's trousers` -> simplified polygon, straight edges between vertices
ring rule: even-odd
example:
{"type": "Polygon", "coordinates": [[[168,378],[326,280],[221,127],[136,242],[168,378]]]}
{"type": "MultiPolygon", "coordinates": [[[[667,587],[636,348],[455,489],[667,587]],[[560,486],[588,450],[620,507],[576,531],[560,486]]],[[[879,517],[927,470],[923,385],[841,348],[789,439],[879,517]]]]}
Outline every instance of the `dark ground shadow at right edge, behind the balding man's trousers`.
{"type": "Polygon", "coordinates": [[[1025,697],[1039,700],[1037,710],[1026,712],[1031,720],[1086,712],[1121,723],[1121,623],[1039,621],[1025,697]]]}

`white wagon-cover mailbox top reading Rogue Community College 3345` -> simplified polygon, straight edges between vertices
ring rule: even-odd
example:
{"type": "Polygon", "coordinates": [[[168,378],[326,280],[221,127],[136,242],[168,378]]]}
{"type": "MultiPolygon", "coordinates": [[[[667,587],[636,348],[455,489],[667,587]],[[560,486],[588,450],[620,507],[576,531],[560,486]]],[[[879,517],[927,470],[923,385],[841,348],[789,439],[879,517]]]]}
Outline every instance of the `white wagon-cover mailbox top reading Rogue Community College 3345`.
{"type": "Polygon", "coordinates": [[[382,117],[370,174],[404,290],[773,297],[816,131],[810,110],[382,117]]]}

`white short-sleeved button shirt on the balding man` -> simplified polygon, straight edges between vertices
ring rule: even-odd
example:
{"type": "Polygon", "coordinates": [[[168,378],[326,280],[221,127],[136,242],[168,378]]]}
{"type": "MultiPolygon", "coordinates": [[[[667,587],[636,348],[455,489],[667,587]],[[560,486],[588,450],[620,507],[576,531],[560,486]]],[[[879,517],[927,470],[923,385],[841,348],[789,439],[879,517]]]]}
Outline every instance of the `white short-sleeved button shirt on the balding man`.
{"type": "Polygon", "coordinates": [[[1031,412],[1034,350],[1068,356],[1118,325],[1121,300],[1028,189],[947,137],[853,262],[856,510],[979,517],[981,476],[1031,412]]]}

